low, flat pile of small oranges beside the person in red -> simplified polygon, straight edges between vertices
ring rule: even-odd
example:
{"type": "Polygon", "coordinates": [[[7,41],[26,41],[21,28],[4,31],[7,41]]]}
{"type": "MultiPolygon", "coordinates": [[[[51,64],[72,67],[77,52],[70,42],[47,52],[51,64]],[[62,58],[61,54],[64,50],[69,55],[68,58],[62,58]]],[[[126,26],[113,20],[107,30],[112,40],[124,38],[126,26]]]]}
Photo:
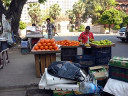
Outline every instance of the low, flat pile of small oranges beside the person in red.
{"type": "Polygon", "coordinates": [[[60,41],[56,41],[56,43],[58,45],[62,45],[62,46],[79,46],[79,44],[81,44],[78,41],[70,41],[70,40],[60,40],[60,41]]]}

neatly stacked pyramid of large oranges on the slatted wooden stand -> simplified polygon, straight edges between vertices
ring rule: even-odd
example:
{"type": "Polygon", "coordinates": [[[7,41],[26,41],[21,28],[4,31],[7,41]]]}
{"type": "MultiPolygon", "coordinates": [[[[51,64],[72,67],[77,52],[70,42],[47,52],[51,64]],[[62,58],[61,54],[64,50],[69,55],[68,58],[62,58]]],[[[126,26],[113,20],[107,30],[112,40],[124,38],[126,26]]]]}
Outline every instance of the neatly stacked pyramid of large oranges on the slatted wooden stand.
{"type": "Polygon", "coordinates": [[[55,39],[40,39],[38,43],[33,48],[34,51],[36,50],[59,50],[55,39]]]}

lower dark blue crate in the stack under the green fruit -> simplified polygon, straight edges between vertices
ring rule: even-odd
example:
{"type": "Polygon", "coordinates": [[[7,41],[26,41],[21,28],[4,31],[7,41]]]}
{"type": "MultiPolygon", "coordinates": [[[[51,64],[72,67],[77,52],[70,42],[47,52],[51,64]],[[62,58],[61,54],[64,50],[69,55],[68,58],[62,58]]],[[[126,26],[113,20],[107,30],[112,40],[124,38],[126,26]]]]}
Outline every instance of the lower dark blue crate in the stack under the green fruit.
{"type": "Polygon", "coordinates": [[[95,65],[107,65],[111,59],[111,54],[105,54],[102,57],[95,57],[95,65]]]}

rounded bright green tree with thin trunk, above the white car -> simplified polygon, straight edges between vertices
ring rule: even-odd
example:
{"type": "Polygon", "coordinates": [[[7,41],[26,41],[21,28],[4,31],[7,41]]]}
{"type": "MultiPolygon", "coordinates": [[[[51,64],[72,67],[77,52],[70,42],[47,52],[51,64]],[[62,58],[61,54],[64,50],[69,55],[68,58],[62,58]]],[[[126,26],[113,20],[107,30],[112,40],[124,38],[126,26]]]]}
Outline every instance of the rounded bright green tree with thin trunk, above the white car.
{"type": "Polygon", "coordinates": [[[123,19],[120,16],[120,13],[116,9],[109,9],[103,12],[100,22],[102,24],[109,24],[109,32],[110,32],[110,26],[112,24],[121,24],[123,22],[123,19]]]}

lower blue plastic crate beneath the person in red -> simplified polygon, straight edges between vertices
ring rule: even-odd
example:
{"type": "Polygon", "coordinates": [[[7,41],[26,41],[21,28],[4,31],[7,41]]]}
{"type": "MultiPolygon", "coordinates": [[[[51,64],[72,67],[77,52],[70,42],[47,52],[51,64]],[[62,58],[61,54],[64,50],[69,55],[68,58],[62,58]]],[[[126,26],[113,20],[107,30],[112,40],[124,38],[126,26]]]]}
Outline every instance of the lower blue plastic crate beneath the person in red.
{"type": "Polygon", "coordinates": [[[95,66],[95,57],[92,55],[77,55],[76,59],[83,67],[95,66]]]}

